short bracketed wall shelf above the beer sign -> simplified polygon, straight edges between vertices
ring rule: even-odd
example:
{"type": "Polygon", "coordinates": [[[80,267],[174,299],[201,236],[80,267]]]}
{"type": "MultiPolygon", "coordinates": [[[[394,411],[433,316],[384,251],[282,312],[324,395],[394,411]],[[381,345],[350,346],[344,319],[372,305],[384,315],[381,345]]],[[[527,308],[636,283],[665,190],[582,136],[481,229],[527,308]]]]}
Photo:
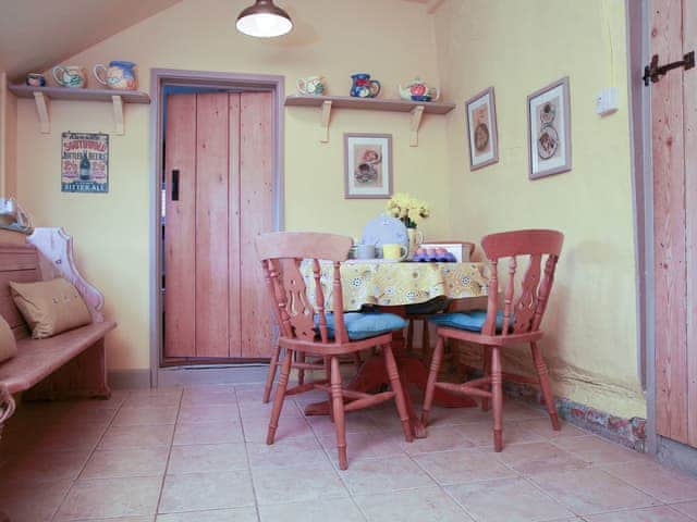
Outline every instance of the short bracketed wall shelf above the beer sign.
{"type": "Polygon", "coordinates": [[[10,85],[9,88],[20,98],[34,98],[39,117],[39,128],[44,134],[51,132],[49,116],[51,100],[107,101],[111,103],[115,134],[124,134],[124,103],[150,103],[150,97],[147,92],[138,90],[72,89],[69,87],[30,87],[28,85],[10,85]]]}

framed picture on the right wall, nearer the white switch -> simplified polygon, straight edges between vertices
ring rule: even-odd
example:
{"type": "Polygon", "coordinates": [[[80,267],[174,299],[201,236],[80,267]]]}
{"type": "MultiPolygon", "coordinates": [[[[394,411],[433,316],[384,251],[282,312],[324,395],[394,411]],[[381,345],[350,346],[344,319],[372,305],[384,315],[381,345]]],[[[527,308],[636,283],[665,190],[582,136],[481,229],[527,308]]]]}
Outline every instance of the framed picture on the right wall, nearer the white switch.
{"type": "Polygon", "coordinates": [[[568,77],[527,97],[530,179],[571,171],[568,77]]]}

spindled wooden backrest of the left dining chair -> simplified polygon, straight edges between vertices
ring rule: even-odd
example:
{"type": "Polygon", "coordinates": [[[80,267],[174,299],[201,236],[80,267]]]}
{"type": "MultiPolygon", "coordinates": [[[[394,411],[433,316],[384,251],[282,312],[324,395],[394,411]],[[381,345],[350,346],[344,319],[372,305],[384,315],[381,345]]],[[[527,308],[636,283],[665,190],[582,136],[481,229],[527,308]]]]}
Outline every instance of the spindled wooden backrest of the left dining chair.
{"type": "Polygon", "coordinates": [[[278,232],[262,234],[257,238],[257,254],[261,260],[267,291],[273,303],[273,314],[282,337],[316,341],[315,315],[317,315],[321,343],[348,341],[344,324],[340,265],[346,260],[352,244],[351,237],[311,232],[278,232]],[[317,310],[310,302],[305,279],[301,273],[303,260],[308,260],[313,266],[317,310]],[[331,261],[333,264],[333,339],[329,336],[327,325],[325,293],[320,281],[320,260],[331,261]]]}

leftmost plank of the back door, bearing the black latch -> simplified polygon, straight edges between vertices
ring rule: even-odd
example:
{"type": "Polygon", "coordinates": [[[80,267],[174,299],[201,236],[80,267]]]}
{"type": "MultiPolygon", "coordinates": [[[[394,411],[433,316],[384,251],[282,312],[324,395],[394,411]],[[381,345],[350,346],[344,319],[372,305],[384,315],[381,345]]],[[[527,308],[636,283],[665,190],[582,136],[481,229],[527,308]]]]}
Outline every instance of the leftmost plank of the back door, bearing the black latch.
{"type": "Polygon", "coordinates": [[[167,98],[164,228],[164,357],[195,353],[196,306],[196,95],[167,98]],[[179,200],[172,200],[172,171],[179,171],[179,200]]]}

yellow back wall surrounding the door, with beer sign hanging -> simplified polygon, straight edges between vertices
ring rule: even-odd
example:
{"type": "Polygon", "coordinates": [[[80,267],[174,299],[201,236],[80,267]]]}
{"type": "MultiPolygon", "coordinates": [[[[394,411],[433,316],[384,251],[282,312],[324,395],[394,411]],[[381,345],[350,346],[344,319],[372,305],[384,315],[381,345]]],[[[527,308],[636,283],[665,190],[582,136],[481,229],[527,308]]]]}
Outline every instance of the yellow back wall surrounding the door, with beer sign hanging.
{"type": "MultiPolygon", "coordinates": [[[[143,90],[151,67],[281,74],[286,91],[299,76],[321,73],[331,94],[347,95],[348,75],[368,71],[386,97],[396,84],[438,67],[430,18],[420,5],[402,0],[293,4],[295,30],[277,40],[258,40],[234,29],[248,0],[187,0],[66,60],[91,67],[113,59],[139,65],[143,90]]],[[[126,108],[126,134],[111,136],[108,195],[60,191],[60,136],[64,130],[110,132],[111,109],[103,103],[53,102],[51,134],[39,134],[34,105],[19,104],[17,177],[20,201],[37,225],[61,225],[75,236],[85,276],[106,295],[106,313],[119,328],[109,336],[111,369],[149,364],[149,109],[126,108]]],[[[285,111],[285,225],[359,235],[384,201],[343,199],[344,132],[390,133],[394,147],[394,188],[433,206],[427,236],[449,235],[448,161],[444,119],[426,116],[419,147],[408,146],[408,115],[334,111],[331,141],[318,141],[317,110],[285,111]]]]}

